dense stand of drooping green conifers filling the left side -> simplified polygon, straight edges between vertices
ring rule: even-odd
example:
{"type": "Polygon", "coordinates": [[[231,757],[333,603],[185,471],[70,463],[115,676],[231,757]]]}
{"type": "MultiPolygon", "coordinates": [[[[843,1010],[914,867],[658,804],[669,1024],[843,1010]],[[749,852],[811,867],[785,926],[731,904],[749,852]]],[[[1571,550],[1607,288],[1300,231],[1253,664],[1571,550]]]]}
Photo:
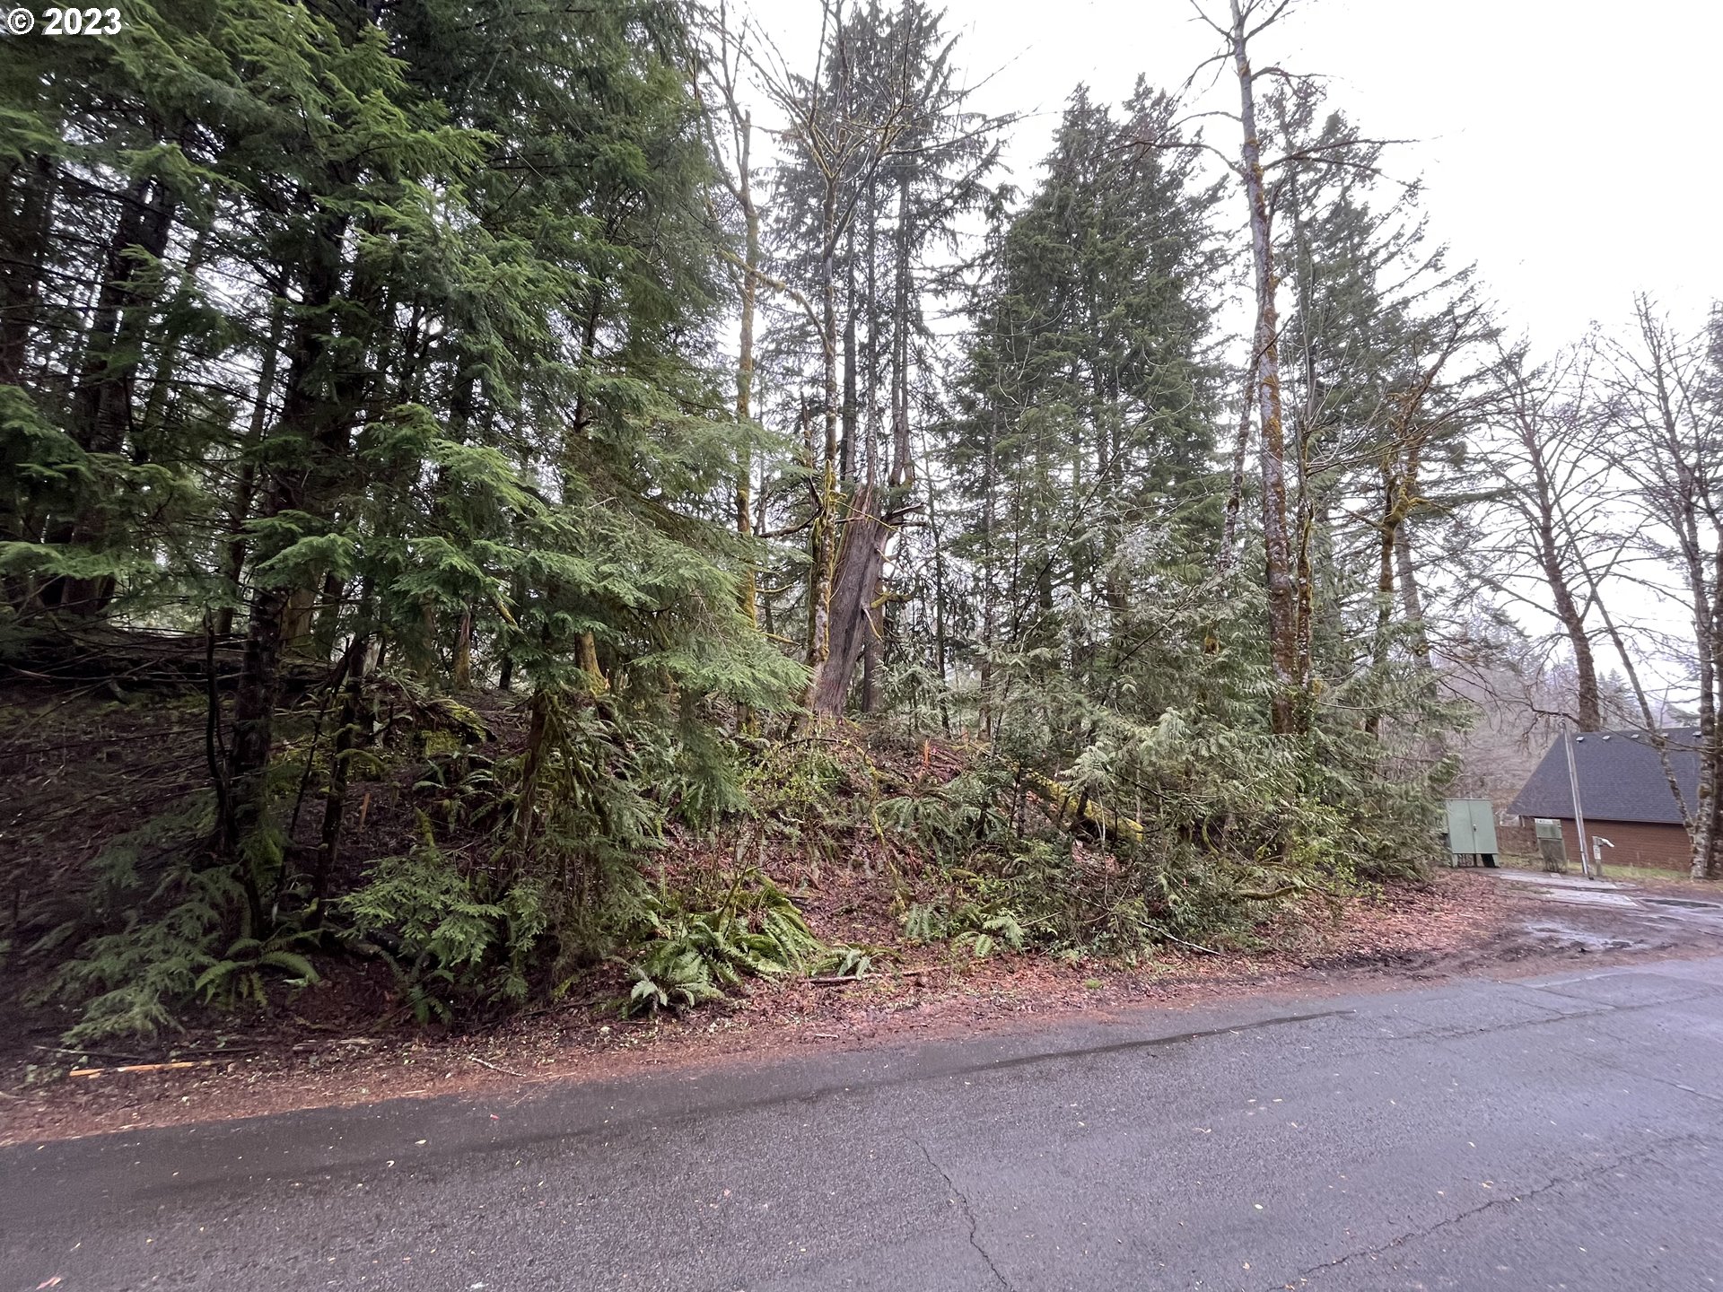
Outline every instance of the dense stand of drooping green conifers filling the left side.
{"type": "MultiPolygon", "coordinates": [[[[377,687],[524,674],[512,851],[460,891],[517,910],[527,963],[589,949],[653,822],[734,803],[713,701],[799,680],[737,608],[746,432],[717,412],[686,16],[208,0],[29,48],[9,91],[38,102],[5,117],[5,219],[41,248],[7,283],[0,396],[17,651],[69,615],[202,620],[214,660],[243,624],[231,705],[212,675],[210,860],[152,901],[231,877],[200,939],[324,918],[377,687]],[[43,93],[74,78],[103,93],[43,93]],[[310,668],[333,755],[314,734],[284,761],[283,682],[310,668]]],[[[420,863],[365,918],[458,899],[420,863]]]]}

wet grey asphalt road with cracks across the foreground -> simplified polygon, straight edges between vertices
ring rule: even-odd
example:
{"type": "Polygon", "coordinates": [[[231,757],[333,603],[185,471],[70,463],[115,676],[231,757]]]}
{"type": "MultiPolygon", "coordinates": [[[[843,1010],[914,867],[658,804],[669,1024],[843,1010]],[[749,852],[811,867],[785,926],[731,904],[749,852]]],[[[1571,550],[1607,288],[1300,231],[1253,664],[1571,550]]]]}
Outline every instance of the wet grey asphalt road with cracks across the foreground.
{"type": "Polygon", "coordinates": [[[1720,1197],[1690,960],[31,1144],[0,1292],[1689,1292],[1720,1197]]]}

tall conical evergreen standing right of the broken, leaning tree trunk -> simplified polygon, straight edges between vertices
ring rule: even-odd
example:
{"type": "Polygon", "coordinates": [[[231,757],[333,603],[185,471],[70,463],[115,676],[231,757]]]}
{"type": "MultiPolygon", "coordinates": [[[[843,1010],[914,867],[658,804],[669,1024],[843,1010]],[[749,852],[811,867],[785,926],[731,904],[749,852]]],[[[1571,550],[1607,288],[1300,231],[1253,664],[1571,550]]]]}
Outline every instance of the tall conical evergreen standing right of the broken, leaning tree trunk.
{"type": "Polygon", "coordinates": [[[1189,160],[1132,146],[1166,96],[1139,84],[1125,110],[1079,91],[998,238],[949,450],[984,513],[960,551],[1008,589],[1010,636],[1079,670],[1127,610],[1129,565],[1168,527],[1194,534],[1213,450],[1213,195],[1189,160]]]}

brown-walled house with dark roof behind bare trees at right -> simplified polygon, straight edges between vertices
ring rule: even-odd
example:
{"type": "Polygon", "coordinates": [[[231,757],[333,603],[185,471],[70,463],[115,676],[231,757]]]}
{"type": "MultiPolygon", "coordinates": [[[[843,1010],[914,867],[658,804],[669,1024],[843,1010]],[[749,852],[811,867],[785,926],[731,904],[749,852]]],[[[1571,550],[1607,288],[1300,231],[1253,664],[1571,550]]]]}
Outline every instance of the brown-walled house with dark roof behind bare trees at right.
{"type": "MultiPolygon", "coordinates": [[[[1689,727],[1664,730],[1670,765],[1690,813],[1699,801],[1699,732],[1689,727]]],[[[1608,839],[1604,867],[1663,867],[1687,870],[1694,861],[1692,839],[1682,823],[1682,804],[1670,792],[1658,746],[1645,732],[1594,730],[1573,736],[1573,768],[1580,780],[1585,832],[1608,839]]],[[[1527,825],[1537,817],[1561,822],[1568,860],[1578,863],[1580,841],[1573,829],[1573,789],[1563,741],[1549,746],[1520,796],[1508,811],[1527,825]]]]}

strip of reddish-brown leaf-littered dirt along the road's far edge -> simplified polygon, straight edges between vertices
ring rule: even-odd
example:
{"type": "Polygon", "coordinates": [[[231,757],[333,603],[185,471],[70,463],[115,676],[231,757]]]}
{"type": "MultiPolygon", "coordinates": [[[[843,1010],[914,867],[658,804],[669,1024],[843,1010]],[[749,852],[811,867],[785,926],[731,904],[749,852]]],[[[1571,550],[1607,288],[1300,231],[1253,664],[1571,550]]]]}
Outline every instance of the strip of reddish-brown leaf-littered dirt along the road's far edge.
{"type": "MultiPolygon", "coordinates": [[[[844,877],[830,875],[829,884],[841,889],[844,877]]],[[[1180,949],[1132,968],[1030,954],[973,961],[929,947],[858,982],[767,982],[725,1006],[655,1022],[622,1022],[574,1003],[479,1034],[438,1035],[412,1027],[355,1032],[339,1016],[302,1013],[267,1034],[195,1034],[155,1054],[91,1054],[98,1071],[83,1077],[67,1075],[71,1056],[52,1040],[0,1020],[12,1034],[0,1068],[0,1144],[400,1097],[496,1096],[541,1082],[1023,1032],[1072,1015],[1263,992],[1390,991],[1459,973],[1511,977],[1575,961],[1723,951],[1723,901],[1709,904],[1692,885],[1602,891],[1602,899],[1578,889],[1575,896],[1546,891],[1535,877],[1439,872],[1428,884],[1354,901],[1330,922],[1289,916],[1272,932],[1280,942],[1273,953],[1180,949]],[[191,1066],[119,1071],[128,1061],[191,1066]]]]}

